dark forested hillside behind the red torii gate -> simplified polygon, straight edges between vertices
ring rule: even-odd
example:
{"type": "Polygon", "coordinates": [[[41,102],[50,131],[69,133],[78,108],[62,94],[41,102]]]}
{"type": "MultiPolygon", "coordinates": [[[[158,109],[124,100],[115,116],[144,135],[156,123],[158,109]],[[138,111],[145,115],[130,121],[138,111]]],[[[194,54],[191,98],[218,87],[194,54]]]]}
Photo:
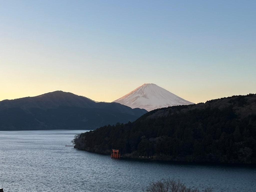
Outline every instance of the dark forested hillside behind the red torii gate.
{"type": "Polygon", "coordinates": [[[133,123],[78,135],[75,148],[124,157],[256,163],[256,94],[157,109],[133,123]]]}

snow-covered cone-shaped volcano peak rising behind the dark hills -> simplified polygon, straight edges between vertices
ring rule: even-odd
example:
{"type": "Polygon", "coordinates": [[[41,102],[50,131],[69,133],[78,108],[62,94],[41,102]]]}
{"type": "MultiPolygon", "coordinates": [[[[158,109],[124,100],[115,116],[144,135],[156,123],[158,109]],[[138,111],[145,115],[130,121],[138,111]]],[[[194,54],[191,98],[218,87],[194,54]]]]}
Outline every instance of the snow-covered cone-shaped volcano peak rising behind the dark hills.
{"type": "Polygon", "coordinates": [[[194,104],[154,83],[143,84],[113,102],[121,103],[131,108],[146,109],[147,111],[174,105],[194,104]]]}

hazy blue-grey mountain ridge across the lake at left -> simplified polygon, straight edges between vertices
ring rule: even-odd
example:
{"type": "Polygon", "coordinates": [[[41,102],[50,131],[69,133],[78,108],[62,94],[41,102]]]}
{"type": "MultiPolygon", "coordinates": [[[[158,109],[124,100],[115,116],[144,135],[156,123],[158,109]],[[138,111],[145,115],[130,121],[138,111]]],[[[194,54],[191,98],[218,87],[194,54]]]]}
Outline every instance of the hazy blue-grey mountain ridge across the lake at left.
{"type": "Polygon", "coordinates": [[[54,91],[0,101],[0,130],[95,129],[134,121],[146,112],[119,103],[95,102],[73,93],[54,91]]]}

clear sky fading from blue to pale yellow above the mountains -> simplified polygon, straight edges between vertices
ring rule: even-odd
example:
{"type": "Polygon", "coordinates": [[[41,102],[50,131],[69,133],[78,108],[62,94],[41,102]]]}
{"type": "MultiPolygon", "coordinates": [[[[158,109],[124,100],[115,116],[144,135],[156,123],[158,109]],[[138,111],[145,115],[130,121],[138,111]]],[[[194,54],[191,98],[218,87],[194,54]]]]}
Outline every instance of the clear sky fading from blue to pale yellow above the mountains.
{"type": "Polygon", "coordinates": [[[0,0],[0,100],[111,102],[143,83],[194,103],[256,93],[256,1],[0,0]]]}

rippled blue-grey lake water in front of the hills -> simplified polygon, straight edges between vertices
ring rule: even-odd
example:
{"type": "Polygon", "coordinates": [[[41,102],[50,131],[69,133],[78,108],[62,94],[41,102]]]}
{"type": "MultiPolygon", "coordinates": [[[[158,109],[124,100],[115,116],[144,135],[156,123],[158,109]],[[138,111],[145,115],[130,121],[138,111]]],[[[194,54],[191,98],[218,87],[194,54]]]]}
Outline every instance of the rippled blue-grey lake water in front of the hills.
{"type": "Polygon", "coordinates": [[[213,191],[256,191],[256,168],[177,165],[111,159],[70,145],[82,130],[0,131],[0,188],[13,191],[142,191],[151,181],[180,179],[213,191]]]}

